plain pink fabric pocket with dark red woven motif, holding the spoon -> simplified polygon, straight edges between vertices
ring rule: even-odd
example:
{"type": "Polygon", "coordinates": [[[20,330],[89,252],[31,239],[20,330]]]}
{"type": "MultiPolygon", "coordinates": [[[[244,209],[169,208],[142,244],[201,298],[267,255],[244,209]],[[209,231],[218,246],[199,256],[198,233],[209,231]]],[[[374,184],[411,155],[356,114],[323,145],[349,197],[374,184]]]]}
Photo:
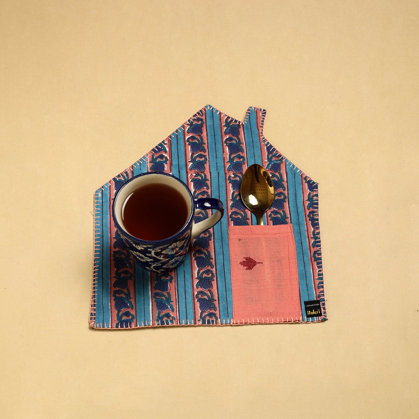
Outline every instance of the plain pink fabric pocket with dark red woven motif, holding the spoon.
{"type": "Polygon", "coordinates": [[[234,321],[301,321],[292,225],[229,226],[228,236],[234,321]]]}

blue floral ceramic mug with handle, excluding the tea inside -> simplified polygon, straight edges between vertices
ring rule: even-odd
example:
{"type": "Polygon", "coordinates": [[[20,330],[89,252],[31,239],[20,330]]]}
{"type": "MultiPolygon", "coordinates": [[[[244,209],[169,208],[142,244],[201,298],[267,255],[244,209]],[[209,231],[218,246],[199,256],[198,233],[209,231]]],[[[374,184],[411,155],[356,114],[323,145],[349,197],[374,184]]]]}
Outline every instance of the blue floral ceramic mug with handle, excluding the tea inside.
{"type": "MultiPolygon", "coordinates": [[[[170,204],[168,204],[170,208],[170,204]]],[[[129,179],[115,194],[112,217],[122,239],[135,261],[150,272],[167,272],[179,266],[185,259],[189,244],[194,237],[217,224],[224,215],[222,202],[216,198],[194,199],[189,188],[180,179],[168,173],[147,172],[129,179]],[[122,211],[127,198],[135,189],[147,184],[165,184],[176,189],[185,199],[189,211],[185,225],[176,234],[158,241],[141,240],[130,235],[124,228],[122,211]],[[194,215],[204,209],[215,209],[210,217],[194,222],[194,215]]]]}

